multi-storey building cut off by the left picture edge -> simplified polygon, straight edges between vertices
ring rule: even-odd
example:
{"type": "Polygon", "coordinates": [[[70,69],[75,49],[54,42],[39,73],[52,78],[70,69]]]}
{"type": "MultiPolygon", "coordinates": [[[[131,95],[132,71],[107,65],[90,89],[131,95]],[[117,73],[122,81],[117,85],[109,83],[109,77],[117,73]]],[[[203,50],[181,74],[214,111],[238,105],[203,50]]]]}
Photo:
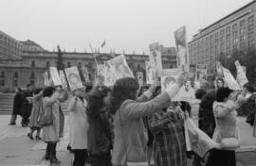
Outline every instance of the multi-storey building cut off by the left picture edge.
{"type": "Polygon", "coordinates": [[[0,59],[21,58],[23,45],[0,30],[0,59]]]}

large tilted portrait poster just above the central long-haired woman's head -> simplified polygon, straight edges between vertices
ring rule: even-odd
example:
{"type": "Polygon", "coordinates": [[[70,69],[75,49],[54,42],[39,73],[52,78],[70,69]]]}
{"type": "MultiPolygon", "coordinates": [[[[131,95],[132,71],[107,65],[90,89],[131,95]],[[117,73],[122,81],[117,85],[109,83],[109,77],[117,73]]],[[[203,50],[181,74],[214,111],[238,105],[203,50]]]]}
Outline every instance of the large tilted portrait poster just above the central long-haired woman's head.
{"type": "Polygon", "coordinates": [[[127,64],[124,55],[107,60],[105,64],[108,66],[109,70],[114,71],[114,74],[118,79],[122,77],[135,77],[127,64]]]}

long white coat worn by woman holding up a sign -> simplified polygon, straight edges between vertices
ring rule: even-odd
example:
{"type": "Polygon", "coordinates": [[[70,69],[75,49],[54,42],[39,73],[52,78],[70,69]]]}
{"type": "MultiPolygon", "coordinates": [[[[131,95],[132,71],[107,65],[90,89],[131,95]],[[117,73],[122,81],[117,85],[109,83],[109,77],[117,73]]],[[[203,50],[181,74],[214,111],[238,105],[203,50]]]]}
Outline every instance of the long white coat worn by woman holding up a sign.
{"type": "Polygon", "coordinates": [[[82,100],[73,97],[68,106],[69,143],[72,149],[87,149],[87,102],[82,100]]]}

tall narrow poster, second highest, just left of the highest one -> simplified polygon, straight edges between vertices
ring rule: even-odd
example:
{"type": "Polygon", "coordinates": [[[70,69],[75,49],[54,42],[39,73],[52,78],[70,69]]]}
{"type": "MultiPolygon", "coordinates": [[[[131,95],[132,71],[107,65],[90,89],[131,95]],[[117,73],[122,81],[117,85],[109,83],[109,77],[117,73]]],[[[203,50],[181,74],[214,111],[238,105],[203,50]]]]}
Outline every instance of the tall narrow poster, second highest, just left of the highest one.
{"type": "Polygon", "coordinates": [[[150,62],[153,67],[153,78],[161,77],[162,73],[162,57],[159,50],[158,42],[150,44],[150,62]]]}

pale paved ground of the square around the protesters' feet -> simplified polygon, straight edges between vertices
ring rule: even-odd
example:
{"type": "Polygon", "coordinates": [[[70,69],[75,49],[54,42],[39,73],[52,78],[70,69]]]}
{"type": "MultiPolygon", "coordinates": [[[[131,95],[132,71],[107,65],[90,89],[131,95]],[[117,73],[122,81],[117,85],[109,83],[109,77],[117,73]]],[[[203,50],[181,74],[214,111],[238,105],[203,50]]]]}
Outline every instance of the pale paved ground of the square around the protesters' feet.
{"type": "MultiPolygon", "coordinates": [[[[62,161],[62,166],[71,165],[72,155],[66,151],[68,143],[67,116],[65,116],[64,138],[58,144],[57,156],[62,161]]],[[[43,141],[30,141],[27,138],[29,128],[21,127],[19,124],[9,126],[9,115],[0,115],[0,166],[46,166],[48,162],[42,160],[45,154],[46,144],[43,141]]],[[[256,146],[256,139],[252,138],[252,130],[245,123],[245,118],[238,118],[241,132],[242,146],[256,146]]],[[[244,166],[249,163],[250,166],[256,165],[254,153],[237,153],[237,165],[244,166]]],[[[192,161],[189,160],[189,166],[192,161]]]]}

